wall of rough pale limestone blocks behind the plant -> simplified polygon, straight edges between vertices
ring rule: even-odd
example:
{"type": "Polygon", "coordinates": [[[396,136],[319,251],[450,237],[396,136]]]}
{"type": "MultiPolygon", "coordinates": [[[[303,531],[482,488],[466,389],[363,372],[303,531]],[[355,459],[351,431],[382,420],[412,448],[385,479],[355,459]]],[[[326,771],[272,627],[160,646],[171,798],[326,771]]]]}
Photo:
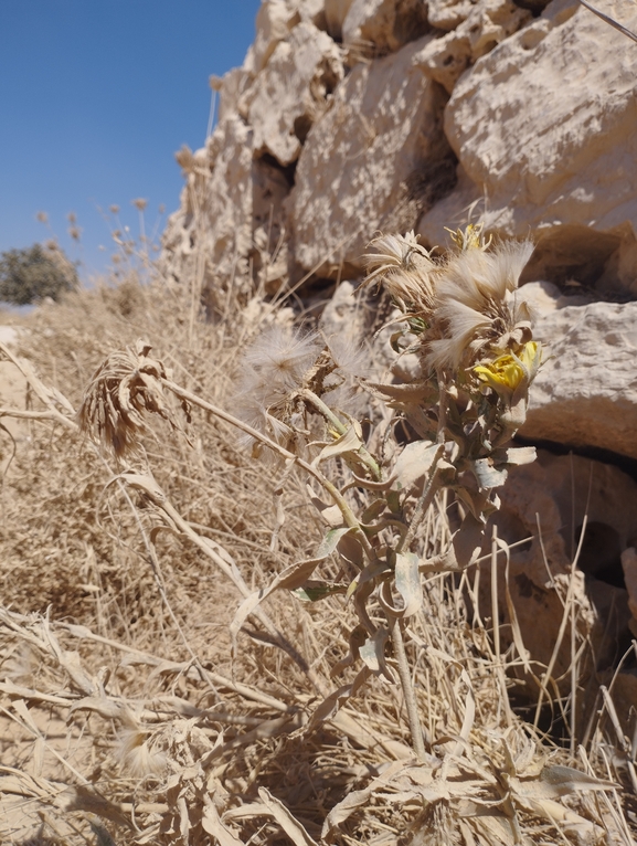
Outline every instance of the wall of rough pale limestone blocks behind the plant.
{"type": "MultiPolygon", "coordinates": [[[[633,0],[604,11],[637,31],[633,0]]],[[[544,549],[512,558],[531,635],[538,610],[553,609],[535,644],[544,662],[574,485],[578,501],[592,486],[603,514],[591,518],[582,621],[612,653],[602,609],[626,633],[627,585],[637,634],[636,68],[637,44],[577,0],[264,0],[244,64],[211,81],[214,133],[178,154],[185,187],[163,239],[166,271],[194,274],[211,310],[229,279],[267,293],[355,283],[378,230],[414,229],[444,248],[446,226],[480,219],[497,237],[535,242],[522,290],[549,355],[521,434],[584,456],[546,454],[502,497],[511,542],[537,531],[546,500],[544,549]]]]}

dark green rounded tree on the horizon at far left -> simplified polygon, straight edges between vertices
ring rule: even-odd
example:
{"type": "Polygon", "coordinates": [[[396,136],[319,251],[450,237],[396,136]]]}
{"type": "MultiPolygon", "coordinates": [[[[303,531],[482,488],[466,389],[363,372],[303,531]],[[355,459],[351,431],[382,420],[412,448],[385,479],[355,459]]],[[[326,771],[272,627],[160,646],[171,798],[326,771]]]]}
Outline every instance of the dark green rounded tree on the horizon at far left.
{"type": "Polygon", "coordinates": [[[0,253],[0,300],[24,306],[59,299],[77,285],[76,267],[55,241],[0,253]]]}

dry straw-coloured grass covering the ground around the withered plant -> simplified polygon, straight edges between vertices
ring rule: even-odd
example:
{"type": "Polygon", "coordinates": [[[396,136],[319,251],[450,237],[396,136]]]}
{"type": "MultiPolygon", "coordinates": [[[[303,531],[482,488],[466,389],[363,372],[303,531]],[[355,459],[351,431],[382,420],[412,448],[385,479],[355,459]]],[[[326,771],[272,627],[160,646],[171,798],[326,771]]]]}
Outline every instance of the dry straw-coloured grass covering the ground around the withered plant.
{"type": "MultiPolygon", "coordinates": [[[[280,474],[240,451],[214,414],[193,409],[189,423],[166,400],[169,420],[142,435],[149,478],[139,456],[126,466],[99,456],[74,411],[105,357],[138,338],[184,389],[227,406],[238,355],[285,315],[242,308],[229,286],[206,322],[198,289],[129,278],[29,320],[31,416],[0,493],[0,713],[12,738],[2,842],[633,843],[631,752],[607,719],[612,699],[585,748],[578,738],[559,748],[523,722],[509,696],[524,651],[498,645],[474,570],[431,577],[410,618],[423,764],[400,687],[347,666],[332,675],[357,624],[342,596],[306,605],[273,594],[233,658],[244,588],[320,541],[305,480],[287,477],[283,521],[280,474]]],[[[448,540],[445,514],[438,500],[429,549],[448,540]]],[[[322,567],[337,574],[336,562],[322,567]]],[[[564,614],[571,637],[569,602],[564,614]]],[[[572,641],[581,662],[585,644],[572,641]]]]}

